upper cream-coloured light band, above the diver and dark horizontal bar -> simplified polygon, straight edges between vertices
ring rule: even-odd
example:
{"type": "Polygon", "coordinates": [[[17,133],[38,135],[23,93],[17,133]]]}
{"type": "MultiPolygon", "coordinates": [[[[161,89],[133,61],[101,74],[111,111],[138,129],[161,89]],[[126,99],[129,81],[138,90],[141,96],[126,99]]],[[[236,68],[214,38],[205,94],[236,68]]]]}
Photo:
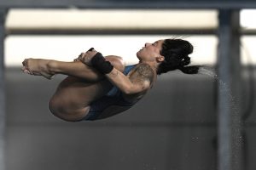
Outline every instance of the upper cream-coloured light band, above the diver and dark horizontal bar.
{"type": "Polygon", "coordinates": [[[67,29],[212,29],[217,10],[163,9],[11,9],[6,28],[67,29]]]}

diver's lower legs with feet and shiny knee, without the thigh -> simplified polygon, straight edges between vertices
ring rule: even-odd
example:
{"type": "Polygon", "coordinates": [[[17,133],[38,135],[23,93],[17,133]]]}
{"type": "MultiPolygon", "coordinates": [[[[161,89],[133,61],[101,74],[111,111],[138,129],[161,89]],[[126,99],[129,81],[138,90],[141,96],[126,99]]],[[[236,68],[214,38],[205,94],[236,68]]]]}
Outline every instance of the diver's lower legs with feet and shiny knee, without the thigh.
{"type": "MultiPolygon", "coordinates": [[[[124,71],[125,65],[121,58],[117,56],[107,56],[107,60],[119,71],[124,71]]],[[[84,65],[80,61],[64,62],[54,59],[25,59],[22,63],[22,70],[35,76],[44,76],[50,79],[55,74],[79,77],[87,82],[97,82],[104,77],[94,68],[84,65]]]]}

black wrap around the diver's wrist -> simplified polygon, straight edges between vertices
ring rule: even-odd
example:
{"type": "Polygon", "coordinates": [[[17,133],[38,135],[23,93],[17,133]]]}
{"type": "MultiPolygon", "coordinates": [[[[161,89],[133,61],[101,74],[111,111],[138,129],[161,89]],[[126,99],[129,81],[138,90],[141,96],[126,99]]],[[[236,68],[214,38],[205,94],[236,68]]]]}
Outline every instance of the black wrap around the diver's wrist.
{"type": "Polygon", "coordinates": [[[107,61],[101,53],[96,53],[96,55],[90,60],[90,63],[102,74],[108,74],[113,70],[113,65],[111,65],[111,63],[107,61]]]}

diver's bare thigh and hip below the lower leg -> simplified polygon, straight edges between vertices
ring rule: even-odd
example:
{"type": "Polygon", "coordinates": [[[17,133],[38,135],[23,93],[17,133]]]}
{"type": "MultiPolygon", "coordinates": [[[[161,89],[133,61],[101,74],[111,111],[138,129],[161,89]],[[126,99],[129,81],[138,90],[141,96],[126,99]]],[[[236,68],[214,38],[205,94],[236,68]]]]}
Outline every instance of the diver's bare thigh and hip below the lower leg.
{"type": "Polygon", "coordinates": [[[107,79],[89,83],[76,77],[67,77],[50,99],[49,109],[66,121],[79,121],[86,116],[91,102],[102,98],[112,87],[107,79]]]}

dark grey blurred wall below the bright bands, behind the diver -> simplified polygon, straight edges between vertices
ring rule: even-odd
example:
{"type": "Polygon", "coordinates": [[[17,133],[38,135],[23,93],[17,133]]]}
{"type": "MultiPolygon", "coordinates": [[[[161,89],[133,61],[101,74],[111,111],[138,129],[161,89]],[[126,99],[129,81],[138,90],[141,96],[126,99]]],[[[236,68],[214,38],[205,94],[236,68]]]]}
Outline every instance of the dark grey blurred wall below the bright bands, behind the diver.
{"type": "MultiPolygon", "coordinates": [[[[48,99],[61,79],[7,69],[8,170],[217,168],[217,83],[212,77],[172,71],[160,76],[131,110],[97,122],[62,122],[49,113],[48,99]]],[[[252,170],[255,119],[250,117],[246,131],[247,169],[252,170]]]]}

